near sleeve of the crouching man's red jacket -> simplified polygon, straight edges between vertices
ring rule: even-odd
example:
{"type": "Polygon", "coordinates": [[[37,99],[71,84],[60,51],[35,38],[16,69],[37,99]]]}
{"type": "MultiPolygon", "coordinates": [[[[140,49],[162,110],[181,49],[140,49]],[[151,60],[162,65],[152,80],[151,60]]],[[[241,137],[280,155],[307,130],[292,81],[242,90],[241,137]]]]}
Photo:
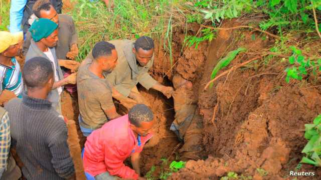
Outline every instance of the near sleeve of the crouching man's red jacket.
{"type": "Polygon", "coordinates": [[[127,144],[123,144],[121,147],[119,147],[119,145],[105,145],[106,169],[110,175],[127,179],[137,179],[138,174],[123,163],[127,156],[121,149],[127,149],[126,145],[127,144]]]}

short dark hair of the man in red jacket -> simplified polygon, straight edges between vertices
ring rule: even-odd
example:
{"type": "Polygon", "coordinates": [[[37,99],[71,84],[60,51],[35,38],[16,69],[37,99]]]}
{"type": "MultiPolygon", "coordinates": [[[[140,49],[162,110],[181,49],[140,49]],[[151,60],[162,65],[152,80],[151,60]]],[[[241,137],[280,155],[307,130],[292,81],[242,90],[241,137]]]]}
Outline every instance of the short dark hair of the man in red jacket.
{"type": "Polygon", "coordinates": [[[139,127],[141,122],[152,121],[153,114],[145,104],[136,104],[129,110],[128,118],[131,124],[139,127]]]}

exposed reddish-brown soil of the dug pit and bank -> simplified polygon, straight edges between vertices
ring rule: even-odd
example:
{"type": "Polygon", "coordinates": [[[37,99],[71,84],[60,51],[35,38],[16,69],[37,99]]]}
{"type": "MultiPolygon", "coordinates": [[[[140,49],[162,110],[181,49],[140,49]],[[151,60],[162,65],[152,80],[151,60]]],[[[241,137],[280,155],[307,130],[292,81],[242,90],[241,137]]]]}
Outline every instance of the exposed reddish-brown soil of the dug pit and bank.
{"type": "MultiPolygon", "coordinates": [[[[222,27],[239,25],[242,24],[230,21],[224,22],[222,27]]],[[[194,35],[200,27],[189,28],[189,34],[194,35]]],[[[188,161],[186,167],[171,178],[220,179],[228,172],[236,172],[244,179],[320,179],[320,168],[297,165],[307,143],[304,124],[311,123],[321,113],[321,89],[310,84],[285,83],[285,63],[280,57],[266,59],[262,55],[263,50],[273,45],[274,39],[248,30],[221,30],[211,43],[202,42],[199,49],[195,49],[194,46],[183,48],[184,31],[177,28],[175,32],[173,66],[169,54],[156,44],[150,73],[158,82],[168,85],[167,78],[171,79],[175,73],[193,82],[198,98],[197,112],[203,118],[202,145],[205,148],[202,159],[188,161]],[[258,60],[230,71],[215,81],[212,89],[204,90],[217,62],[239,47],[247,48],[247,52],[238,55],[218,75],[256,56],[258,60]],[[290,171],[315,172],[315,175],[295,177],[289,175],[290,171]]],[[[155,135],[142,151],[141,171],[145,174],[153,165],[161,166],[164,159],[179,160],[177,151],[182,144],[169,130],[175,116],[173,99],[166,99],[153,90],[141,87],[139,90],[148,99],[157,119],[155,135]]],[[[68,93],[64,94],[63,114],[70,119],[68,127],[75,129],[70,132],[76,134],[75,139],[70,140],[70,146],[75,147],[71,148],[71,153],[79,157],[84,138],[77,127],[77,101],[68,93]]],[[[81,164],[81,160],[75,164],[81,164]]],[[[83,169],[78,167],[77,177],[82,179],[83,169]]],[[[159,175],[159,170],[154,171],[154,177],[159,175]]]]}

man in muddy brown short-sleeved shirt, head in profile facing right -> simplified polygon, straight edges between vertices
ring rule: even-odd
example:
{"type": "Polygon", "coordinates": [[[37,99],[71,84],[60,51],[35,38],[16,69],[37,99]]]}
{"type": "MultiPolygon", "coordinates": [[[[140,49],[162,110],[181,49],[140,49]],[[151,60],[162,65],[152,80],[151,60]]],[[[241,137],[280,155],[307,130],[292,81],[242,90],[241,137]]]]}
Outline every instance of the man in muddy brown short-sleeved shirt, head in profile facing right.
{"type": "Polygon", "coordinates": [[[104,77],[117,64],[115,46],[101,41],[92,50],[93,59],[85,59],[77,77],[79,125],[84,136],[108,120],[120,117],[112,101],[112,89],[104,77]]]}

